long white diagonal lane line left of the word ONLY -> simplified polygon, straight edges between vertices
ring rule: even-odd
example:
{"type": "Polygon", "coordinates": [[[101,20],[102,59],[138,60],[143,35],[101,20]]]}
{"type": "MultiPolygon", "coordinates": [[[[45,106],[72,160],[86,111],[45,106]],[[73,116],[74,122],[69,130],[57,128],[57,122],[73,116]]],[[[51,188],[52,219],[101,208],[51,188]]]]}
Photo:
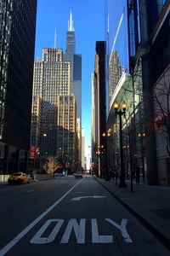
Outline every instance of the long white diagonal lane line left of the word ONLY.
{"type": "Polygon", "coordinates": [[[69,189],[69,190],[65,193],[65,195],[61,196],[58,201],[54,202],[54,204],[53,204],[51,207],[49,207],[45,212],[43,212],[39,217],[37,217],[31,224],[29,224],[29,225],[26,227],[25,230],[22,230],[19,235],[15,236],[13,240],[9,241],[8,244],[0,250],[0,256],[3,256],[5,253],[8,253],[8,251],[9,251],[12,247],[14,247],[14,245],[15,245],[17,242],[19,242],[21,238],[23,238],[24,236],[26,236],[26,234],[27,234],[43,217],[45,217],[49,212],[51,212],[51,211],[54,209],[54,207],[56,207],[56,206],[59,204],[59,202],[62,201],[62,200],[65,198],[65,196],[68,195],[68,194],[71,192],[71,190],[74,189],[74,188],[76,188],[77,185],[78,185],[79,183],[81,183],[81,182],[82,182],[82,179],[81,179],[78,183],[76,183],[71,189],[69,189]]]}

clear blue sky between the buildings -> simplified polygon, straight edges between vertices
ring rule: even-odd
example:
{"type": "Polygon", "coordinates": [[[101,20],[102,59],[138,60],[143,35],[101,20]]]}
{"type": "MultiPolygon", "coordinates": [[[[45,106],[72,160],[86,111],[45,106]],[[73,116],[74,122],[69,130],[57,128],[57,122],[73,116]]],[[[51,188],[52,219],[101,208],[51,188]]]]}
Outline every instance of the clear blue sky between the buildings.
{"type": "Polygon", "coordinates": [[[86,144],[91,145],[91,75],[94,72],[95,42],[105,40],[105,0],[38,0],[35,59],[42,48],[66,47],[70,11],[76,34],[76,53],[82,54],[82,128],[86,144]]]}

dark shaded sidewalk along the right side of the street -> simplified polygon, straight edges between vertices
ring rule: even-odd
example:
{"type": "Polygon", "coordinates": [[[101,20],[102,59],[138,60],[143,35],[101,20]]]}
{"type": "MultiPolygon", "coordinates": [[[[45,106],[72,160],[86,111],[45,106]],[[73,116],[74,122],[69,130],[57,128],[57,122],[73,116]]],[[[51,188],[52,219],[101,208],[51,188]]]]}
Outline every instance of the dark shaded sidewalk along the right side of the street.
{"type": "Polygon", "coordinates": [[[170,249],[170,187],[133,183],[130,192],[129,181],[127,188],[119,188],[115,181],[96,180],[170,249]]]}

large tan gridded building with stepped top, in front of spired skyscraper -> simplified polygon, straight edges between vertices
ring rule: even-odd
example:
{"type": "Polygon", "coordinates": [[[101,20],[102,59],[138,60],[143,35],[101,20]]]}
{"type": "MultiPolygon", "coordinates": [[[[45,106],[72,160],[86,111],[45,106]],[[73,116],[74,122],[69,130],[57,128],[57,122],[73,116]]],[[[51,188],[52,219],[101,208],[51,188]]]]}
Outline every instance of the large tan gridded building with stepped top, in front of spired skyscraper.
{"type": "Polygon", "coordinates": [[[71,63],[63,60],[62,49],[56,48],[42,49],[42,60],[34,63],[31,146],[40,148],[41,157],[56,154],[57,97],[70,95],[70,68],[71,63]]]}

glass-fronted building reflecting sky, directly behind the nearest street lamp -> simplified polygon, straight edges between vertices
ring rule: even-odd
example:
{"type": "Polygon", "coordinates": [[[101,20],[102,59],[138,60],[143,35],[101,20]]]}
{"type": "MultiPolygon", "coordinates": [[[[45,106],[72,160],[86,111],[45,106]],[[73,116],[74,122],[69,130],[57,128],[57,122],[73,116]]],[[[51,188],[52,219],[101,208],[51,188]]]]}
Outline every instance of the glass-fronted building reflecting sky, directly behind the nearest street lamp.
{"type": "Polygon", "coordinates": [[[108,0],[105,8],[109,103],[107,131],[111,132],[111,137],[107,139],[109,168],[112,172],[114,169],[120,170],[121,167],[120,121],[115,116],[113,103],[118,102],[122,106],[122,103],[126,102],[126,118],[122,117],[123,165],[127,177],[130,172],[134,172],[137,164],[144,177],[144,139],[138,137],[138,134],[144,134],[141,60],[133,66],[133,73],[130,70],[141,40],[139,1],[117,3],[108,0]]]}

